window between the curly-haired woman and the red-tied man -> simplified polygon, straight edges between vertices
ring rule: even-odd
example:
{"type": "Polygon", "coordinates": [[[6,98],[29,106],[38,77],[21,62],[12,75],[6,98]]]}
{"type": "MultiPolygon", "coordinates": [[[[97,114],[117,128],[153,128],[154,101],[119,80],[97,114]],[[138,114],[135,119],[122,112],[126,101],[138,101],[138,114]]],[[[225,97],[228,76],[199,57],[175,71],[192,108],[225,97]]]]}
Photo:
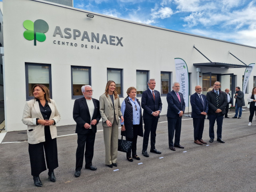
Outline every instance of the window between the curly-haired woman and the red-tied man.
{"type": "Polygon", "coordinates": [[[136,70],[136,88],[137,96],[148,89],[148,71],[136,70]]]}

